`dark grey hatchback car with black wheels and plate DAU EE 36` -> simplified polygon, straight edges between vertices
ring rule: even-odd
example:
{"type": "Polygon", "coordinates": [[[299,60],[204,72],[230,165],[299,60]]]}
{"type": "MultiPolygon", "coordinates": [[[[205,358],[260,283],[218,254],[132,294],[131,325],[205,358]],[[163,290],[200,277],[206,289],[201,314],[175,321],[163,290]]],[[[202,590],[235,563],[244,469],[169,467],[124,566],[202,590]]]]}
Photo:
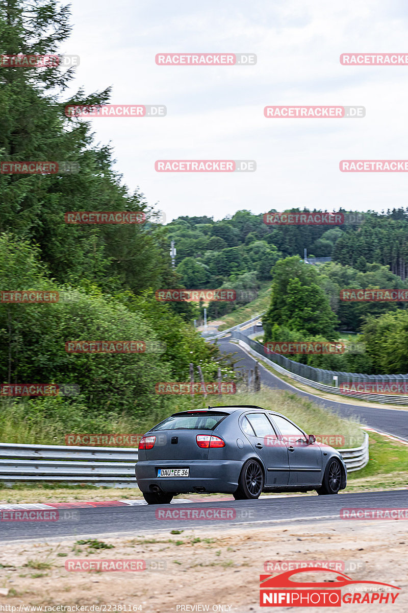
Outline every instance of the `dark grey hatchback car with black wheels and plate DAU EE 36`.
{"type": "Polygon", "coordinates": [[[259,406],[209,406],[174,413],[143,436],[136,479],[149,504],[179,493],[336,494],[347,469],[336,449],[275,411],[259,406]]]}

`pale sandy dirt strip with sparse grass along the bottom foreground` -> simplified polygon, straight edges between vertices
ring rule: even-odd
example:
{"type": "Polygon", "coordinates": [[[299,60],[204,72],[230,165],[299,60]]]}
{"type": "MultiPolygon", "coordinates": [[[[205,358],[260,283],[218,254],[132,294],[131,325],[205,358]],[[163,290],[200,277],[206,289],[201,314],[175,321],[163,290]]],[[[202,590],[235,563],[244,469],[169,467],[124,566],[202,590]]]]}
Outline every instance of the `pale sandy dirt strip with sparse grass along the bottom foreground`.
{"type": "MultiPolygon", "coordinates": [[[[404,521],[335,520],[321,522],[317,527],[310,522],[282,523],[274,527],[231,530],[199,528],[171,534],[175,529],[177,525],[165,531],[141,534],[136,528],[132,537],[103,538],[104,543],[114,546],[112,549],[95,549],[102,547],[98,543],[75,544],[75,539],[2,543],[0,585],[10,592],[8,596],[0,596],[0,605],[17,606],[16,611],[20,604],[77,604],[86,605],[87,611],[92,611],[89,607],[97,604],[111,605],[110,611],[115,610],[114,605],[122,606],[122,611],[136,611],[131,607],[141,605],[141,610],[147,613],[202,611],[180,609],[180,606],[197,604],[209,605],[209,611],[265,611],[259,607],[259,574],[265,573],[265,562],[332,560],[358,562],[358,570],[344,571],[355,581],[379,581],[401,588],[395,604],[381,604],[381,611],[406,613],[408,610],[408,536],[404,521]],[[150,565],[152,561],[160,563],[165,570],[65,570],[67,560],[121,558],[150,560],[150,565]],[[225,608],[213,609],[216,605],[225,608]]],[[[316,581],[316,576],[311,581],[316,581]]],[[[347,611],[372,611],[369,607],[369,604],[348,604],[347,611]]],[[[310,613],[321,610],[307,609],[310,613]]]]}

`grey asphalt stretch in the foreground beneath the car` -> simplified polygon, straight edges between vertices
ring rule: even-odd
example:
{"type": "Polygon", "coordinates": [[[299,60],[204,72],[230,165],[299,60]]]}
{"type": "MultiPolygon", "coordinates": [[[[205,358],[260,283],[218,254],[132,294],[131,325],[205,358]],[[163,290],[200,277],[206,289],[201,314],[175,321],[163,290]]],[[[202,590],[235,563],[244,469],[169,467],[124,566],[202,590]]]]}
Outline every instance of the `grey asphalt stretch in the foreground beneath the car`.
{"type": "MultiPolygon", "coordinates": [[[[170,530],[222,527],[239,525],[251,527],[273,525],[276,522],[330,521],[339,519],[342,508],[407,508],[408,490],[390,492],[340,493],[334,496],[293,496],[265,497],[259,500],[233,500],[231,502],[202,502],[184,504],[163,504],[149,506],[121,506],[86,508],[79,510],[79,519],[57,522],[0,522],[0,541],[21,539],[58,539],[62,536],[89,538],[96,535],[128,533],[132,536],[143,532],[163,530],[166,538],[170,530]],[[156,511],[191,511],[192,509],[231,509],[236,511],[234,519],[156,519],[156,511]]],[[[64,516],[61,509],[60,517],[64,516]]],[[[224,511],[226,514],[226,511],[224,511]]],[[[228,517],[228,516],[227,516],[228,517]]],[[[352,521],[352,520],[344,520],[352,521]]],[[[393,520],[395,521],[395,520],[393,520]]],[[[174,537],[171,537],[174,538],[174,537]]]]}

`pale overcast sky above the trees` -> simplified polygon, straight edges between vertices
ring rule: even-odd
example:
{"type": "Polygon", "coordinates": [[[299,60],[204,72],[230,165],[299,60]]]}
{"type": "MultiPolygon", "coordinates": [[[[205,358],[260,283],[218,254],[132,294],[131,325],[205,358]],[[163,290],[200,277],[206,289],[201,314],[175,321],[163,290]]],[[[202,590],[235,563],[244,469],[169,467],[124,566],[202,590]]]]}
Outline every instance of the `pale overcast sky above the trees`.
{"type": "MultiPolygon", "coordinates": [[[[72,0],[62,53],[75,90],[164,104],[165,118],[93,118],[124,183],[149,204],[215,219],[247,208],[407,206],[407,173],[342,173],[341,159],[408,159],[408,66],[342,66],[347,52],[408,53],[404,0],[72,0]],[[161,52],[256,53],[255,66],[157,66],[161,52]],[[362,119],[267,119],[265,105],[363,105],[362,119]],[[252,173],[158,173],[157,159],[254,159],[252,173]]],[[[80,102],[80,101],[78,101],[80,102]]]]}

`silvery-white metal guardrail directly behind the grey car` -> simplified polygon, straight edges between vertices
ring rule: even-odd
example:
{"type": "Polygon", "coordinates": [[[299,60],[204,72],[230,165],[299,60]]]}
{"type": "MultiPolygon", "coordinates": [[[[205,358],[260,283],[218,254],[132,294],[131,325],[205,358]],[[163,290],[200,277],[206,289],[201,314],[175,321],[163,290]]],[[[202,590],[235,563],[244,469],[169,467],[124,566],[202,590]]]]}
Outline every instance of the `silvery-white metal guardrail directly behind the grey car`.
{"type": "MultiPolygon", "coordinates": [[[[347,472],[368,462],[368,434],[361,447],[339,449],[347,472]]],[[[67,447],[0,443],[0,482],[51,481],[137,487],[137,449],[122,447],[67,447]]]]}

